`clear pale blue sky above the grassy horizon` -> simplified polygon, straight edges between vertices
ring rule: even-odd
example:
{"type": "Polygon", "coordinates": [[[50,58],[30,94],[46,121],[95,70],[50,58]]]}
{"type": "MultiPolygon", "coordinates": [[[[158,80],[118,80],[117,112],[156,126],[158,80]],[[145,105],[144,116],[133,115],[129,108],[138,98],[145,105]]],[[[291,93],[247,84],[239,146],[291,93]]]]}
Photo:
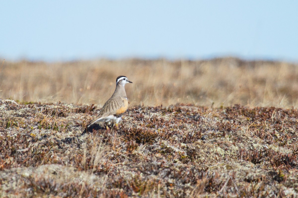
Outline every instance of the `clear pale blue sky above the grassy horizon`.
{"type": "Polygon", "coordinates": [[[298,1],[1,1],[0,58],[298,62],[298,1]]]}

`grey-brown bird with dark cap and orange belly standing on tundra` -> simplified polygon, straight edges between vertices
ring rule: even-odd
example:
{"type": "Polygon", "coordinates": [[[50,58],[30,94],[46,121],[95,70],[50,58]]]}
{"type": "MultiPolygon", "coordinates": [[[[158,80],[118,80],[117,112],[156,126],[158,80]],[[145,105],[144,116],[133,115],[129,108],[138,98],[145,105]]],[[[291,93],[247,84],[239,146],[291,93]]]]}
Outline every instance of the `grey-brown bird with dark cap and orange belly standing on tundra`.
{"type": "Polygon", "coordinates": [[[127,110],[128,106],[128,99],[124,88],[126,83],[132,82],[129,81],[126,76],[117,77],[116,89],[113,95],[105,102],[97,117],[93,119],[87,127],[90,127],[97,121],[105,121],[107,123],[111,120],[116,120],[116,126],[118,126],[119,121],[122,120],[121,116],[127,110]]]}

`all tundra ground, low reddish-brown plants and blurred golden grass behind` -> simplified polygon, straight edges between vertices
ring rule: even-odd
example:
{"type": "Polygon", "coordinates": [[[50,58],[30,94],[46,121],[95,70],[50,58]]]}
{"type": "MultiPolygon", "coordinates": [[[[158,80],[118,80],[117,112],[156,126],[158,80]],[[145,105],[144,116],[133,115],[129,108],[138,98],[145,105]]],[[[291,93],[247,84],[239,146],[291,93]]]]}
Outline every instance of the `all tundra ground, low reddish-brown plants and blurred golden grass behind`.
{"type": "Polygon", "coordinates": [[[4,61],[0,197],[297,197],[297,81],[237,58],[4,61]],[[122,122],[86,128],[118,75],[122,122]]]}

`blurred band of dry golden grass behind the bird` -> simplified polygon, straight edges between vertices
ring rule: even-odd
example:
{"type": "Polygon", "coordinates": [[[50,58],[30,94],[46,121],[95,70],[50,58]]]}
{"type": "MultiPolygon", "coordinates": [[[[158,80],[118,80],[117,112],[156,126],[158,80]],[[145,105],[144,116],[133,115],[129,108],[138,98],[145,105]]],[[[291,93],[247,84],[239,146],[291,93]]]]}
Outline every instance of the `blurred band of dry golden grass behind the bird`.
{"type": "Polygon", "coordinates": [[[44,63],[4,61],[0,98],[27,102],[103,103],[126,75],[130,106],[191,103],[298,107],[298,65],[218,58],[201,61],[115,60],[44,63]]]}

